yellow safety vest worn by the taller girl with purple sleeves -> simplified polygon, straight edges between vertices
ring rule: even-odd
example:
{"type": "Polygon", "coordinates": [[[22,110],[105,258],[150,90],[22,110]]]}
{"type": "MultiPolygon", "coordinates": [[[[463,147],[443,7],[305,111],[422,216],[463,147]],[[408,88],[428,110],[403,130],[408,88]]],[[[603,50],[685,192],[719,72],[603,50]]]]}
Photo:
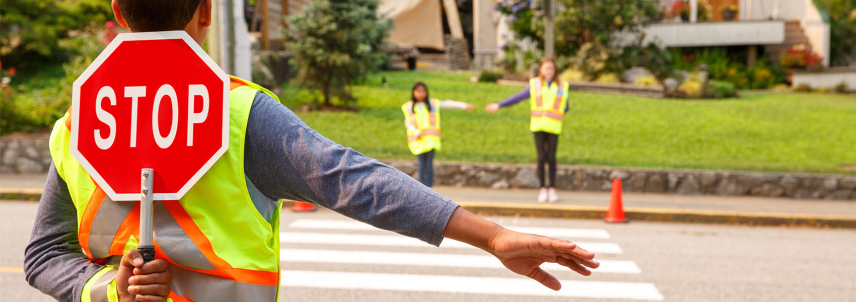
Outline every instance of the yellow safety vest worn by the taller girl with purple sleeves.
{"type": "Polygon", "coordinates": [[[541,78],[529,80],[529,108],[532,111],[529,130],[562,134],[562,118],[565,116],[565,106],[568,106],[568,87],[568,82],[554,80],[550,86],[546,86],[541,78]]]}

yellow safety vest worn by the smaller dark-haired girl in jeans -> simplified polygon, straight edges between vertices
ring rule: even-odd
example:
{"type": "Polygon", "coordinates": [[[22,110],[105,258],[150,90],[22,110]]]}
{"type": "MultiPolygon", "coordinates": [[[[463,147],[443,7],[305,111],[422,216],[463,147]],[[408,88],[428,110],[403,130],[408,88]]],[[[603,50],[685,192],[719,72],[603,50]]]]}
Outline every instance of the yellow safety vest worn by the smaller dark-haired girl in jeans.
{"type": "Polygon", "coordinates": [[[407,127],[407,146],[413,155],[440,150],[440,102],[437,98],[428,102],[431,102],[431,112],[426,106],[415,106],[414,110],[413,101],[401,105],[404,126],[407,127]]]}

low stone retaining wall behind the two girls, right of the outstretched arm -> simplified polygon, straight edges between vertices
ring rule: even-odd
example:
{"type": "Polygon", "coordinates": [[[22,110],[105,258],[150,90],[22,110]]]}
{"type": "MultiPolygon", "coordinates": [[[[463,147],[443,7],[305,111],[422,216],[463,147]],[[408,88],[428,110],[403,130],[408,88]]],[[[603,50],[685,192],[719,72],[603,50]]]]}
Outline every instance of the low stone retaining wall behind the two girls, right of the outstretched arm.
{"type": "MultiPolygon", "coordinates": [[[[415,161],[386,161],[416,177],[415,161]]],[[[764,196],[856,200],[856,175],[811,175],[689,169],[620,169],[560,165],[556,188],[609,191],[621,179],[624,192],[687,195],[764,196]]],[[[534,164],[435,163],[440,186],[536,188],[534,164]]]]}

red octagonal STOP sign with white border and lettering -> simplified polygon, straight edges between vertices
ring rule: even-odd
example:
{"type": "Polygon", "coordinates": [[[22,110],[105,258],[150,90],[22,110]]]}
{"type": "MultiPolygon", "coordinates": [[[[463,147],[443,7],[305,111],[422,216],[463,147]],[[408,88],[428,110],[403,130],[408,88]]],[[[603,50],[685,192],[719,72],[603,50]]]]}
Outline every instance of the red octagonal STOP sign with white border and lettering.
{"type": "Polygon", "coordinates": [[[71,152],[114,200],[181,198],[229,143],[229,77],[183,31],[122,33],[74,81],[71,152]]]}

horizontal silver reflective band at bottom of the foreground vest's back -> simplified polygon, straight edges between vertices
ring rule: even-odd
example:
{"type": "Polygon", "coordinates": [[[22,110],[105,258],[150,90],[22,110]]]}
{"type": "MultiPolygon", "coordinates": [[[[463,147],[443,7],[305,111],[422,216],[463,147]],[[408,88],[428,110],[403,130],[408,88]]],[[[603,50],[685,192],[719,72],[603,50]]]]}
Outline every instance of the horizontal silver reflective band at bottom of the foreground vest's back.
{"type": "Polygon", "coordinates": [[[279,287],[226,280],[169,265],[172,282],[169,289],[181,297],[207,301],[276,301],[279,287]]]}

